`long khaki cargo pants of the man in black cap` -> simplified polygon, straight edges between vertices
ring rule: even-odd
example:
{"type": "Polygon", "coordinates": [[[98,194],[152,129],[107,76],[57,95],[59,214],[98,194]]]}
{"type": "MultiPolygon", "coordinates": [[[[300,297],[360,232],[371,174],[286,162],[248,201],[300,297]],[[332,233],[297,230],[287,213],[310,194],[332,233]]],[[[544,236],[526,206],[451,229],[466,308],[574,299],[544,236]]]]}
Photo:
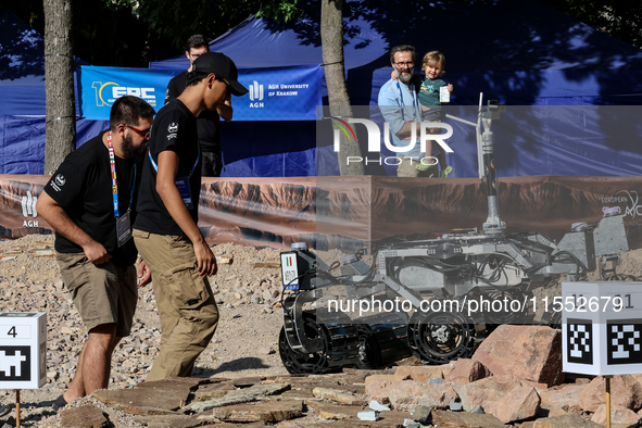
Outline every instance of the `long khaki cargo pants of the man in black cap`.
{"type": "Polygon", "coordinates": [[[191,376],[218,324],[210,282],[197,269],[189,239],[135,229],[134,240],[152,273],[161,316],[161,350],[146,380],[191,376]]]}

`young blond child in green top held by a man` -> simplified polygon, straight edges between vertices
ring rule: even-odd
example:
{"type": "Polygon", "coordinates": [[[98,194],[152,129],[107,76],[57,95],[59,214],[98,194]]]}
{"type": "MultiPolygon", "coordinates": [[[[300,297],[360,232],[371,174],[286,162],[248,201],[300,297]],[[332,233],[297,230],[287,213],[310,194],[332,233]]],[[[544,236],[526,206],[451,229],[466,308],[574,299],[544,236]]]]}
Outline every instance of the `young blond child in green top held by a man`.
{"type": "MultiPolygon", "coordinates": [[[[453,86],[443,81],[440,77],[443,75],[445,68],[445,56],[439,51],[430,51],[424,55],[421,61],[421,71],[426,74],[424,77],[420,74],[415,74],[412,84],[418,93],[419,104],[421,104],[421,121],[425,122],[443,122],[444,114],[441,110],[440,88],[445,86],[449,92],[453,91],[453,86]]],[[[394,72],[392,78],[396,79],[394,72]]],[[[432,135],[440,134],[441,128],[428,128],[432,135]]],[[[453,172],[453,167],[445,162],[445,152],[442,147],[439,148],[437,160],[441,169],[439,177],[446,178],[453,172]]],[[[428,165],[421,163],[417,164],[417,169],[428,169],[428,165]]]]}

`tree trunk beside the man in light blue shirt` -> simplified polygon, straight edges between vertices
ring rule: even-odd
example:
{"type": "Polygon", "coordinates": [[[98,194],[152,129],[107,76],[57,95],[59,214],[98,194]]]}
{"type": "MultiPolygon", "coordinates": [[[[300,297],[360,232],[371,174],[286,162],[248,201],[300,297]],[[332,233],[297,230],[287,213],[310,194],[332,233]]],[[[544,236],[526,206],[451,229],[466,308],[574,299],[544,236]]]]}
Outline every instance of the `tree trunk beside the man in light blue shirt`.
{"type": "MultiPolygon", "coordinates": [[[[322,0],[320,36],[328,86],[330,115],[352,117],[350,96],[345,87],[343,66],[343,0],[322,0]]],[[[363,163],[348,163],[348,156],[361,158],[358,142],[343,133],[339,142],[339,169],[341,175],[364,175],[363,163]]]]}

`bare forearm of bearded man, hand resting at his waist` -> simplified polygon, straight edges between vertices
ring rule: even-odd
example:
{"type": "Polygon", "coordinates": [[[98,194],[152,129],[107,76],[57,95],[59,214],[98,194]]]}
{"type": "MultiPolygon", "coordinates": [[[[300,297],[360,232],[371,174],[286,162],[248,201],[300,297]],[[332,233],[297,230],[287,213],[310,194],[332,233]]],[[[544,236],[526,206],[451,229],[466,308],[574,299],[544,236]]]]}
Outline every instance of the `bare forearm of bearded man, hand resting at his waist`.
{"type": "Polygon", "coordinates": [[[64,209],[46,191],[38,197],[36,210],[55,231],[80,247],[89,262],[99,265],[112,257],[100,242],[95,241],[72,222],[64,209]]]}

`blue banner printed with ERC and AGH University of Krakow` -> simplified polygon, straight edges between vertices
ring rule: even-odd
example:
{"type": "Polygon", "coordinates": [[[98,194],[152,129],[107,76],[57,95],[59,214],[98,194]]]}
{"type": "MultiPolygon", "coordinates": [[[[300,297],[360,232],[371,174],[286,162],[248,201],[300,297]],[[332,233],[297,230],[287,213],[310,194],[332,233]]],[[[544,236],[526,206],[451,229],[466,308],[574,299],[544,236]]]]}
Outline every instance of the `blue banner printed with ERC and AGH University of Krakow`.
{"type": "MultiPolygon", "coordinates": [[[[106,121],[114,101],[140,97],[156,112],[167,84],[181,70],[80,66],[80,114],[106,121]]],[[[250,91],[232,97],[235,121],[314,121],[322,103],[319,65],[241,68],[239,81],[250,91]]]]}

